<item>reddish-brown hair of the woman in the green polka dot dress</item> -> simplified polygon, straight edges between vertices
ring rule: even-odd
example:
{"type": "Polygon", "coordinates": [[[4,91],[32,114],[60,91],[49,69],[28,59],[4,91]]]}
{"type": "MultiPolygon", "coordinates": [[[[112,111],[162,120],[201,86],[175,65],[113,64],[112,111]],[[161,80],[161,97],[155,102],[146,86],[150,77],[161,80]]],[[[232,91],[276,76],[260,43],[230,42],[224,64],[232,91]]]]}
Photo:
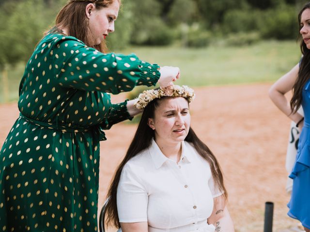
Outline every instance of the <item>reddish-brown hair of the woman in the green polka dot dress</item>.
{"type": "MultiPolygon", "coordinates": [[[[100,52],[107,52],[105,41],[100,44],[93,44],[92,33],[88,25],[88,18],[85,14],[87,4],[93,3],[97,9],[109,7],[114,0],[69,0],[56,16],[56,26],[52,31],[62,32],[62,28],[68,29],[68,34],[81,40],[89,47],[100,52]]],[[[121,4],[121,0],[117,0],[121,4]]]]}

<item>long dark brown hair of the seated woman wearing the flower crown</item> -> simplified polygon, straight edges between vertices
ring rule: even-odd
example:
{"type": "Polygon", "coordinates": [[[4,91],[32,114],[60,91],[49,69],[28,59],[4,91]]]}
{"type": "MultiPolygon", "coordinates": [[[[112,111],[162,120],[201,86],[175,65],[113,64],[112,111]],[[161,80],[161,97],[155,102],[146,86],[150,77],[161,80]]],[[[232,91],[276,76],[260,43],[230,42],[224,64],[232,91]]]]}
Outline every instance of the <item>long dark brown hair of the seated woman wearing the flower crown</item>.
{"type": "MultiPolygon", "coordinates": [[[[127,150],[124,160],[121,162],[121,164],[118,166],[115,172],[114,178],[111,182],[107,195],[107,198],[109,198],[109,202],[107,203],[104,212],[107,215],[106,217],[107,224],[114,225],[118,228],[121,227],[116,202],[117,187],[120,182],[121,173],[124,168],[124,165],[128,162],[128,160],[130,160],[132,157],[136,156],[140,151],[146,149],[151,145],[155,133],[147,124],[148,118],[154,118],[155,109],[158,107],[159,102],[164,98],[155,99],[145,107],[137,131],[127,150]]],[[[217,159],[213,155],[211,150],[198,138],[198,136],[195,134],[192,128],[189,128],[185,141],[192,143],[197,152],[202,156],[202,158],[205,159],[210,164],[211,173],[214,178],[215,185],[220,191],[223,192],[225,199],[227,199],[227,191],[224,187],[223,174],[221,172],[217,159]]]]}

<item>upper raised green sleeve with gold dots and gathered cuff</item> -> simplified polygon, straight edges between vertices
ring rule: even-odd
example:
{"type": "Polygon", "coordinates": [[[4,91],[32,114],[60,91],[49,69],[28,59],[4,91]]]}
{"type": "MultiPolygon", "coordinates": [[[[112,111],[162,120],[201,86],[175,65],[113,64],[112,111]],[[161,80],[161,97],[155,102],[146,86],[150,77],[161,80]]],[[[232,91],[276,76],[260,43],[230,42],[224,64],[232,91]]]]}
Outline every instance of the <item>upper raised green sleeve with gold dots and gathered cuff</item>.
{"type": "Polygon", "coordinates": [[[136,85],[155,85],[159,78],[158,65],[143,62],[134,54],[102,54],[72,37],[59,38],[56,43],[50,56],[62,87],[118,94],[136,85]]]}

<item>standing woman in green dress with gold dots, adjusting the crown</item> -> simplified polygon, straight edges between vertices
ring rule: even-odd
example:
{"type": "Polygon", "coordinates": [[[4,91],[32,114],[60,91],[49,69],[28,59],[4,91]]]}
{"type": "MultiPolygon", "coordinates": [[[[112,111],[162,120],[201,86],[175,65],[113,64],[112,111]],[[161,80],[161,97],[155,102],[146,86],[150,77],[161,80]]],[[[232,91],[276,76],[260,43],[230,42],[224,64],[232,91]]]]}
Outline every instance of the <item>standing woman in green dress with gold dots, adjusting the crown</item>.
{"type": "Polygon", "coordinates": [[[109,93],[171,85],[179,69],[105,54],[120,0],[70,0],[37,44],[19,87],[20,116],[0,151],[0,232],[97,231],[99,141],[139,113],[109,93]]]}

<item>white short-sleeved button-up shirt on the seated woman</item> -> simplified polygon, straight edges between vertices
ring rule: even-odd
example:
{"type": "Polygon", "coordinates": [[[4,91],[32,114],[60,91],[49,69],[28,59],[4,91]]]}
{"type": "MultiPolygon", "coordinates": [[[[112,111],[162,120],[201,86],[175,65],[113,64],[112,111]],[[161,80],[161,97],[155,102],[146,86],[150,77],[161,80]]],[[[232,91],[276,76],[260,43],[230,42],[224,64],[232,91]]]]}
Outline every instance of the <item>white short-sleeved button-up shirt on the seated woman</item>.
{"type": "Polygon", "coordinates": [[[117,189],[120,222],[147,221],[149,232],[214,232],[207,224],[215,188],[209,163],[182,142],[178,163],[155,141],[124,166],[117,189]]]}

